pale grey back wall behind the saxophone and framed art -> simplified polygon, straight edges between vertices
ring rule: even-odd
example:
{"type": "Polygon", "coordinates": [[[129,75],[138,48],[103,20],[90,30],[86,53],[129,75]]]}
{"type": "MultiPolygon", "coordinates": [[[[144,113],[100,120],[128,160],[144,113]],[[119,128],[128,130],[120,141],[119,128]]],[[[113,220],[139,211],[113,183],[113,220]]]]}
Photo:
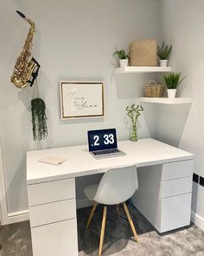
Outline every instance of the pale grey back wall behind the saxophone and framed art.
{"type": "MultiPolygon", "coordinates": [[[[26,151],[36,148],[30,116],[33,89],[21,91],[10,83],[16,57],[29,30],[16,10],[36,24],[33,55],[41,63],[38,83],[48,108],[48,139],[43,147],[50,148],[86,143],[86,131],[94,128],[115,127],[119,140],[128,138],[124,109],[137,103],[146,79],[134,75],[112,79],[112,52],[115,46],[127,49],[136,39],[159,40],[161,5],[157,0],[0,0],[0,5],[0,130],[8,207],[12,213],[28,208],[26,151]],[[104,80],[104,120],[61,121],[61,78],[104,80]]],[[[149,132],[155,135],[142,116],[139,137],[149,136],[149,132]]],[[[90,178],[86,181],[90,182],[90,178]]],[[[78,187],[82,188],[86,181],[78,181],[78,187]]]]}

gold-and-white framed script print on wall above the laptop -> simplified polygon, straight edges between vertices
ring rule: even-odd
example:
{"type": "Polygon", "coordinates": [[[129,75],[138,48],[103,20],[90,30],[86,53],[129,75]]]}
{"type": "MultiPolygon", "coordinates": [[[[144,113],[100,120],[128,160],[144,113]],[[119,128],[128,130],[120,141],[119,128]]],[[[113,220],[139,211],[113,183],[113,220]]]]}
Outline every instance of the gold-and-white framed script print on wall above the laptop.
{"type": "Polygon", "coordinates": [[[60,82],[61,119],[103,117],[104,82],[60,82]]]}

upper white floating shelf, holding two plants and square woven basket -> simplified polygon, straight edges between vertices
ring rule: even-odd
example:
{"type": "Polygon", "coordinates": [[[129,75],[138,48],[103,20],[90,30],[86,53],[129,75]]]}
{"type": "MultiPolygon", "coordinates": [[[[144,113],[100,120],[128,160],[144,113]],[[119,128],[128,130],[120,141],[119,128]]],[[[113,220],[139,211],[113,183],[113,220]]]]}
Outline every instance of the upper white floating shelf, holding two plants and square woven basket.
{"type": "Polygon", "coordinates": [[[136,74],[136,73],[163,73],[171,72],[171,67],[137,67],[137,66],[128,66],[124,68],[115,69],[115,74],[136,74]]]}

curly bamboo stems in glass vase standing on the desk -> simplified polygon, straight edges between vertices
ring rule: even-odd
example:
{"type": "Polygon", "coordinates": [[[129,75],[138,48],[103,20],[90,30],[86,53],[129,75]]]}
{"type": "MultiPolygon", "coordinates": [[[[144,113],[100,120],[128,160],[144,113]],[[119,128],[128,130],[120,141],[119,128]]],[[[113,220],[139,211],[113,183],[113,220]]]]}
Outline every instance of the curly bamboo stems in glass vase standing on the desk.
{"type": "Polygon", "coordinates": [[[140,105],[135,106],[135,104],[131,105],[131,107],[126,108],[127,115],[131,117],[132,122],[132,133],[131,133],[131,141],[137,141],[137,118],[141,115],[139,112],[143,111],[143,107],[140,105]]]}

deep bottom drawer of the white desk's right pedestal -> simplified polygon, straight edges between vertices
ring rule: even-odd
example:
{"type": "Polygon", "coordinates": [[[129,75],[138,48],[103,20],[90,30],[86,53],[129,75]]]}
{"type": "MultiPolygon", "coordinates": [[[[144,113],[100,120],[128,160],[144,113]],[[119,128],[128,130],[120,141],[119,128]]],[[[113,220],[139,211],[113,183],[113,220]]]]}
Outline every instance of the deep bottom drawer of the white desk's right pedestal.
{"type": "Polygon", "coordinates": [[[190,224],[191,193],[162,199],[160,232],[190,224]]]}

